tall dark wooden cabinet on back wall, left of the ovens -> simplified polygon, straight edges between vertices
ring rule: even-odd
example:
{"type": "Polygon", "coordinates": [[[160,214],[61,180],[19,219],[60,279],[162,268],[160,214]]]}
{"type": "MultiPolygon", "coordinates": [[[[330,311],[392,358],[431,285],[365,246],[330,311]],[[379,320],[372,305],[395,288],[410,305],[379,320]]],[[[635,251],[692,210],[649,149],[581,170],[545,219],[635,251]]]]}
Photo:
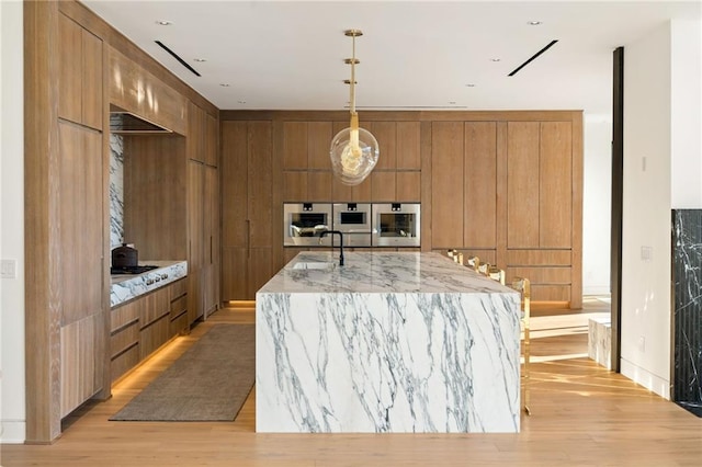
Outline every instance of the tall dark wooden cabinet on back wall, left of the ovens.
{"type": "Polygon", "coordinates": [[[223,122],[222,170],[222,296],[250,300],[273,267],[271,123],[223,122]]]}

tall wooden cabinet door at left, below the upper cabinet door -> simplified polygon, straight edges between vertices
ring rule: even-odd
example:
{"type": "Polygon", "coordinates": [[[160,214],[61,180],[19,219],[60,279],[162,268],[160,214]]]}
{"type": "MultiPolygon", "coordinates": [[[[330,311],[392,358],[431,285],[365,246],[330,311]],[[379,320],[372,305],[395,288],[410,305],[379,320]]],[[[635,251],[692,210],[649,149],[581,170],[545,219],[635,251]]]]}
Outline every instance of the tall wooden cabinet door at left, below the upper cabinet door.
{"type": "Polygon", "coordinates": [[[102,388],[102,134],[59,122],[58,242],[61,417],[102,388]]]}

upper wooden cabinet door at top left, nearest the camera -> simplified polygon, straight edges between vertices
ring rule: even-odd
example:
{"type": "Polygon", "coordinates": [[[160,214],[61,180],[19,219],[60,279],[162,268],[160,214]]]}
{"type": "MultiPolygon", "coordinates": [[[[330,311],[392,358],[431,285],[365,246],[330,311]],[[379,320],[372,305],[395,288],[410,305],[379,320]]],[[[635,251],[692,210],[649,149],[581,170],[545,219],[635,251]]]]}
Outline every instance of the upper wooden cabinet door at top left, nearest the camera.
{"type": "Polygon", "coordinates": [[[63,13],[58,34],[58,116],[102,129],[102,39],[63,13]]]}

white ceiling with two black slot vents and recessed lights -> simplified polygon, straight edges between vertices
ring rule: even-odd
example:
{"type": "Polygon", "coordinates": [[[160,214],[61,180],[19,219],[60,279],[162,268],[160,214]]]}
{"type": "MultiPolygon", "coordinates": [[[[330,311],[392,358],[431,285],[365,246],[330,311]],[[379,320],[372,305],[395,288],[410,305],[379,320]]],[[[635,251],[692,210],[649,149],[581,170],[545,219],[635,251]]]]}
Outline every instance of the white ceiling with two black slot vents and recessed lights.
{"type": "Polygon", "coordinates": [[[343,32],[360,29],[360,111],[565,109],[590,115],[611,114],[614,48],[670,19],[700,21],[702,10],[700,1],[82,3],[222,110],[344,109],[351,68],[343,59],[351,57],[352,39],[343,32]],[[507,76],[552,39],[558,43],[507,76]]]}

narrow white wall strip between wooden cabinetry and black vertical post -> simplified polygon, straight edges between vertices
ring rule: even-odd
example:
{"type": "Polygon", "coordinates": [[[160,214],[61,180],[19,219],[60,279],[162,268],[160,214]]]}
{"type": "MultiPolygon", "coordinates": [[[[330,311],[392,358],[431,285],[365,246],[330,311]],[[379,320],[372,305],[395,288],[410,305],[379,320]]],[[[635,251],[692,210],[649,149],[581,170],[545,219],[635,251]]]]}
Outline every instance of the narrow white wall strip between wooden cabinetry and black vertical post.
{"type": "Polygon", "coordinates": [[[582,294],[610,291],[612,116],[585,115],[582,157],[582,294]]]}

